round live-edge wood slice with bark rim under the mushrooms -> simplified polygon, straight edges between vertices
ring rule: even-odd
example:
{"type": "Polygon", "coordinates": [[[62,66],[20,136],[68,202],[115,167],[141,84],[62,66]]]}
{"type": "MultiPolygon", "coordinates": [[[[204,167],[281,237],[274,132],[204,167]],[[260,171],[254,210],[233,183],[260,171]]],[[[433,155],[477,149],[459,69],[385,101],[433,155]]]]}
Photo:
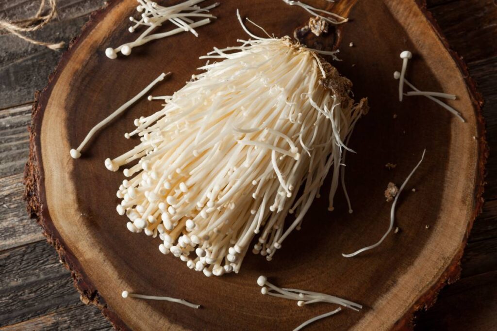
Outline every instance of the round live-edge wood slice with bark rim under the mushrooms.
{"type": "Polygon", "coordinates": [[[429,307],[438,291],[458,278],[466,240],[482,206],[487,155],[482,101],[466,66],[449,50],[423,2],[307,2],[350,19],[306,43],[338,48],[343,61],[332,64],[353,82],[356,100],[369,99],[370,112],[349,143],[357,154],[347,157],[354,212],[348,213],[340,193],[332,212],[327,199],[317,199],[302,230],[289,236],[273,261],[248,254],[239,274],[207,278],[192,271],[179,259],[162,255],[159,239],[130,233],[125,217],[116,213],[115,191],[124,176],[108,171],[104,160],[135,145],[123,133],[134,118],[157,111],[157,103],[146,98],[137,102],[94,139],[82,158],[72,159],[69,150],[161,72],[172,75],[152,92],[170,95],[198,73],[196,68],[205,63],[199,56],[246,38],[237,8],[275,36],[293,36],[308,21],[307,12],[281,0],[223,0],[213,10],[218,19],[199,28],[198,38],[178,34],[110,60],[105,48],[134,37],[127,32],[127,17],[136,8],[135,0],[110,1],[92,15],[37,95],[25,171],[29,212],[72,270],[82,300],[97,305],[115,328],[292,330],[331,310],[326,304],[298,307],[294,301],[262,296],[256,279],[264,274],[281,286],[329,293],[364,306],[309,330],[406,329],[416,311],[429,307]],[[449,104],[466,123],[424,97],[399,102],[393,73],[402,65],[403,50],[414,54],[409,80],[423,90],[456,94],[449,104]],[[375,250],[343,258],[341,253],[383,235],[391,206],[383,192],[389,182],[404,181],[424,148],[424,161],[399,200],[396,226],[401,231],[375,250]],[[397,167],[387,169],[389,162],[397,167]],[[123,299],[124,289],[182,298],[202,308],[123,299]]]}

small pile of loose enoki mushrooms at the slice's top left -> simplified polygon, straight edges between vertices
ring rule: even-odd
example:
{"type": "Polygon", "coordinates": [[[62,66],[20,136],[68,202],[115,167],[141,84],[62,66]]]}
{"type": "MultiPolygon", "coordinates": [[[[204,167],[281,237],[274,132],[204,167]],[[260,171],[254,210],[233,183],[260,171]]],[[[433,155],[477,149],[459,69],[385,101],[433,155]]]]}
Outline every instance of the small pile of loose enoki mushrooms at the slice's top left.
{"type": "Polygon", "coordinates": [[[146,30],[133,42],[123,44],[117,48],[109,47],[105,50],[105,55],[109,59],[117,58],[117,53],[121,52],[123,55],[130,55],[134,47],[141,46],[149,41],[169,37],[181,32],[191,32],[198,37],[196,27],[209,24],[211,19],[216,16],[208,14],[209,10],[219,5],[218,2],[211,4],[207,7],[200,7],[197,3],[205,0],[187,0],[176,5],[163,7],[157,2],[151,0],[137,0],[139,5],[136,10],[141,13],[139,20],[130,16],[130,21],[134,23],[129,27],[129,32],[133,33],[139,26],[147,27],[146,30]],[[193,18],[202,18],[201,20],[194,21],[193,18]],[[167,21],[176,25],[177,28],[167,32],[150,34],[157,27],[166,23],[167,21]]]}

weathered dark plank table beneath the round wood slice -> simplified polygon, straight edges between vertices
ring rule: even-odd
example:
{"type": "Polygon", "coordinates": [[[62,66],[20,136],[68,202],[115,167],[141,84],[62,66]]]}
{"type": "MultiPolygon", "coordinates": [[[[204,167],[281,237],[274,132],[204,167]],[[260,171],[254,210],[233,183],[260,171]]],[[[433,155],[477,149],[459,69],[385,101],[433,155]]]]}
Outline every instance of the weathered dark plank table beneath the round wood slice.
{"type": "MultiPolygon", "coordinates": [[[[497,330],[497,3],[494,0],[428,0],[451,48],[467,63],[485,99],[491,154],[483,213],[462,261],[461,279],[420,313],[419,330],[497,330]]],[[[58,0],[59,19],[33,34],[69,42],[102,0],[58,0]]],[[[38,1],[1,0],[0,18],[25,18],[38,1]]],[[[23,169],[35,90],[42,89],[60,57],[0,31],[0,330],[110,329],[94,306],[86,307],[70,272],[59,264],[23,201],[23,169]]]]}

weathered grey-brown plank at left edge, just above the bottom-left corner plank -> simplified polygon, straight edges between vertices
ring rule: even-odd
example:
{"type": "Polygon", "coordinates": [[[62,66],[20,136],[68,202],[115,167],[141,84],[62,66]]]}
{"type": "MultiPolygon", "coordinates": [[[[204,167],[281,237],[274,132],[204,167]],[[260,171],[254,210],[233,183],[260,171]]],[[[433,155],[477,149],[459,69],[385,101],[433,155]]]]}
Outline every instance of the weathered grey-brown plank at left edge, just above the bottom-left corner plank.
{"type": "Polygon", "coordinates": [[[41,227],[26,213],[22,174],[0,178],[0,251],[44,240],[41,227]]]}

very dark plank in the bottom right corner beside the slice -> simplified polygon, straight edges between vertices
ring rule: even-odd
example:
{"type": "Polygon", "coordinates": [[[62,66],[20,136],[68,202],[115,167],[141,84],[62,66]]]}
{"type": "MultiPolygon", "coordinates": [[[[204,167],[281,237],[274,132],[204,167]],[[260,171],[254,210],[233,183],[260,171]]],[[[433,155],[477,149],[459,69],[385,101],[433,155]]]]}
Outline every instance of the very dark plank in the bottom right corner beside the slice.
{"type": "Polygon", "coordinates": [[[497,330],[497,271],[461,279],[416,320],[416,329],[497,330]]]}

